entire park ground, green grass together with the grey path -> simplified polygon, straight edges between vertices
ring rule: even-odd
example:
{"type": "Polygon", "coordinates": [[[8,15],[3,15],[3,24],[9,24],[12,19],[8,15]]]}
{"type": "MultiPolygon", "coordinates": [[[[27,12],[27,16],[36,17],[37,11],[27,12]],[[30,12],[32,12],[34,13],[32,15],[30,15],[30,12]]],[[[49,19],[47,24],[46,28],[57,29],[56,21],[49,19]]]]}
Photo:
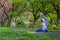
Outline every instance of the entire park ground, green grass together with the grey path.
{"type": "Polygon", "coordinates": [[[60,32],[32,32],[33,29],[0,27],[0,40],[60,40],[60,32]]]}

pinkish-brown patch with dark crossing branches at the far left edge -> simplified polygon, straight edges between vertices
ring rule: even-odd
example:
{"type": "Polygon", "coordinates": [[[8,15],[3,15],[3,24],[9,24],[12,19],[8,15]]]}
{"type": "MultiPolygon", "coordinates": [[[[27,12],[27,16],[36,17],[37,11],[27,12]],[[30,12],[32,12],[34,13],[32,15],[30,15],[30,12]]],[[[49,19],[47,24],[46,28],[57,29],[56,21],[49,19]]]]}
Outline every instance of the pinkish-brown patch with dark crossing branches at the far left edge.
{"type": "Polygon", "coordinates": [[[1,22],[1,26],[4,26],[6,23],[5,21],[7,19],[9,19],[9,12],[11,11],[11,5],[9,5],[9,1],[8,0],[0,0],[0,12],[1,12],[1,16],[0,16],[0,22],[1,22]]]}

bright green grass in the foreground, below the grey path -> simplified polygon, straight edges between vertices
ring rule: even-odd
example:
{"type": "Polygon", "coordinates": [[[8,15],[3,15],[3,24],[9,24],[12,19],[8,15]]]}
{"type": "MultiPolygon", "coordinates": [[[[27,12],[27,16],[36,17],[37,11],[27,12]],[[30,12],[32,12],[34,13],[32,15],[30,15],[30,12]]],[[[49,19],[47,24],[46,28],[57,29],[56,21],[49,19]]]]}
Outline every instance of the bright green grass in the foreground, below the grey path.
{"type": "Polygon", "coordinates": [[[0,40],[51,40],[49,35],[31,34],[24,30],[12,30],[9,27],[0,27],[0,40]]]}

